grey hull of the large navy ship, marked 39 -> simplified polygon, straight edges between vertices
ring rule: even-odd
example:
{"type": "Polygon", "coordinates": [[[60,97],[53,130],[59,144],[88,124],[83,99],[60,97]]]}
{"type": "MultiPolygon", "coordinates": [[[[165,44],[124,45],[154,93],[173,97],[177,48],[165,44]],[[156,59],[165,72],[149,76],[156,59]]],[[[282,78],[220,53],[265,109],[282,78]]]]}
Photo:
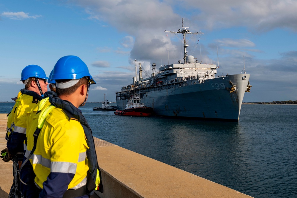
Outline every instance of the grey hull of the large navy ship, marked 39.
{"type": "MultiPolygon", "coordinates": [[[[159,86],[135,92],[142,96],[146,106],[154,108],[155,115],[238,121],[249,77],[249,74],[227,75],[204,83],[189,81],[178,87],[159,86]],[[230,93],[233,85],[236,90],[230,93]]],[[[124,109],[127,102],[117,99],[118,109],[124,109]]]]}

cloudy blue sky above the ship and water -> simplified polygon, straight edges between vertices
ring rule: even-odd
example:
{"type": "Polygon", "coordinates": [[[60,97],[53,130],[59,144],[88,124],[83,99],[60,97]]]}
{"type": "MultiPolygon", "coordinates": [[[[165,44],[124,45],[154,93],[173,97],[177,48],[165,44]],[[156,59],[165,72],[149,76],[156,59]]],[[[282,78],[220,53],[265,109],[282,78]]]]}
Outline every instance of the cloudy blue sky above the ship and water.
{"type": "MultiPolygon", "coordinates": [[[[135,60],[151,74],[183,60],[174,34],[189,27],[188,55],[218,75],[250,74],[243,102],[297,100],[296,0],[0,0],[0,101],[24,88],[22,69],[47,76],[59,58],[80,57],[97,82],[88,102],[115,101],[132,83],[135,60]],[[199,40],[199,42],[198,42],[199,40]]],[[[181,37],[180,37],[181,38],[181,37]]],[[[143,76],[144,78],[147,76],[143,76]]]]}

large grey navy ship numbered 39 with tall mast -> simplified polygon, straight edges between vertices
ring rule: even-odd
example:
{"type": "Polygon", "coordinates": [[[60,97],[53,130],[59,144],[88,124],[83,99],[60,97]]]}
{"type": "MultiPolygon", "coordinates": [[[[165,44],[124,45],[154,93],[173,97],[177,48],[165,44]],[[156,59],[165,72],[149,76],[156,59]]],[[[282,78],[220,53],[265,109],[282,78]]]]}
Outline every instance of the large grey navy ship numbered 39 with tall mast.
{"type": "Polygon", "coordinates": [[[244,94],[252,87],[245,68],[244,74],[216,75],[216,64],[203,64],[187,55],[186,35],[203,33],[191,32],[183,23],[178,31],[165,32],[183,36],[183,62],[161,66],[159,72],[153,63],[151,77],[145,79],[139,63],[139,80],[135,64],[132,84],[116,92],[118,109],[124,110],[129,99],[137,95],[147,107],[154,109],[154,115],[237,122],[244,94]]]}

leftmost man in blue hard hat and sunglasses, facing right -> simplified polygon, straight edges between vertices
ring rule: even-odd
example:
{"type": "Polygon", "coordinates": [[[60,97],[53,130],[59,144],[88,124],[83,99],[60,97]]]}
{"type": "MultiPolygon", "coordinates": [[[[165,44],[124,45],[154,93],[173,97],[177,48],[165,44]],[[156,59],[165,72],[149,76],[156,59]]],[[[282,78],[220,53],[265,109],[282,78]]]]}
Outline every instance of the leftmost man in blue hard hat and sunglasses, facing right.
{"type": "Polygon", "coordinates": [[[42,99],[42,96],[47,91],[47,79],[44,70],[38,65],[28,65],[21,73],[21,81],[25,88],[21,89],[21,95],[16,100],[12,110],[12,117],[10,120],[12,132],[7,135],[7,148],[1,153],[6,153],[3,156],[4,161],[13,161],[13,184],[10,189],[10,197],[26,197],[26,193],[20,192],[20,182],[18,170],[22,164],[24,157],[24,150],[26,147],[24,141],[26,139],[26,121],[27,113],[42,99]]]}

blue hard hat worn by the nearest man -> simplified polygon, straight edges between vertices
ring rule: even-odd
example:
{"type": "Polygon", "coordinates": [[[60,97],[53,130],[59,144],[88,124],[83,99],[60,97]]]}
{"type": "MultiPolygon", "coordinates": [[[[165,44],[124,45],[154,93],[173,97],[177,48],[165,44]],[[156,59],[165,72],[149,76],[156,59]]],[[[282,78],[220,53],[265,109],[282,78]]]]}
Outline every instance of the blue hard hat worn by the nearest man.
{"type": "Polygon", "coordinates": [[[91,84],[96,84],[89,73],[87,65],[77,56],[64,56],[55,64],[52,80],[90,78],[91,84]]]}

